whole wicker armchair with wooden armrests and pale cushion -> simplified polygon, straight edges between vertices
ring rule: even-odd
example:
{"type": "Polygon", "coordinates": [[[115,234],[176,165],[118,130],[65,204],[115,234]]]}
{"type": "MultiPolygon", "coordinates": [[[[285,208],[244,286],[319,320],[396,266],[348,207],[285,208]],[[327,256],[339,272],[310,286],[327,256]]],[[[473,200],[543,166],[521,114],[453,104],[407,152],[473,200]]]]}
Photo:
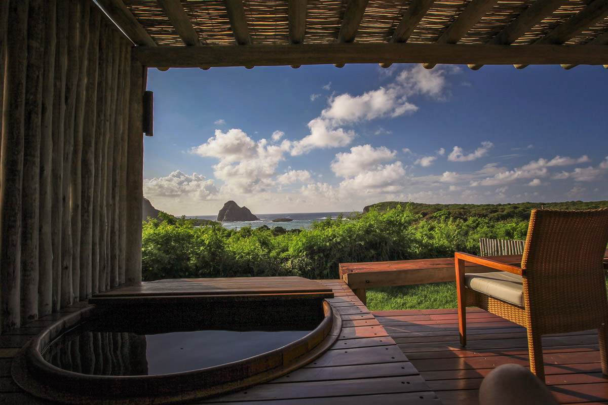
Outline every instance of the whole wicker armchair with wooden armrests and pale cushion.
{"type": "Polygon", "coordinates": [[[534,209],[521,267],[472,254],[455,254],[460,343],[466,312],[476,306],[527,328],[530,370],[544,381],[541,335],[598,329],[608,375],[608,301],[603,257],[608,208],[589,211],[534,209]],[[465,274],[465,262],[500,270],[465,274]]]}

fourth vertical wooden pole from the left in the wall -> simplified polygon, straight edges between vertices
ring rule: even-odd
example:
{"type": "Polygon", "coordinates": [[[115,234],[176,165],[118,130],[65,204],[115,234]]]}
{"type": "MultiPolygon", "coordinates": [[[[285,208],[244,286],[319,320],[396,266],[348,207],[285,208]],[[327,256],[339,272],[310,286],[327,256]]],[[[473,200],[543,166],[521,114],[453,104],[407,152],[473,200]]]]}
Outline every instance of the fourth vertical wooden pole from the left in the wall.
{"type": "Polygon", "coordinates": [[[57,2],[57,59],[55,60],[55,94],[53,103],[52,223],[53,307],[61,307],[61,228],[63,226],[63,138],[66,115],[67,72],[67,3],[57,2]]]}

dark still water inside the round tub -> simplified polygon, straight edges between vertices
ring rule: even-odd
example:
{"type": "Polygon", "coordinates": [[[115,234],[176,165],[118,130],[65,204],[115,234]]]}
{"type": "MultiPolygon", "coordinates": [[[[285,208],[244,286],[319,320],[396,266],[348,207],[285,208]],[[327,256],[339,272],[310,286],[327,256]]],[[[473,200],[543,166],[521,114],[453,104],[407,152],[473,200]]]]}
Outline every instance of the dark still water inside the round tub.
{"type": "Polygon", "coordinates": [[[89,322],[64,333],[43,351],[43,358],[61,369],[89,375],[161,375],[270,352],[311,331],[188,330],[147,334],[140,328],[136,328],[137,332],[98,329],[97,324],[89,322]]]}

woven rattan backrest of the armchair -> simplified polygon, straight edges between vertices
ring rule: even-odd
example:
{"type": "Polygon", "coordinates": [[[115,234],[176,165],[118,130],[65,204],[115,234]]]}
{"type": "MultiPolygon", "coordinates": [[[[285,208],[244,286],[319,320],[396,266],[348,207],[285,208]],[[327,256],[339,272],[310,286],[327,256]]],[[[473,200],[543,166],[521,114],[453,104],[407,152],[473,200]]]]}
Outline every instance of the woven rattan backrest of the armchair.
{"type": "Polygon", "coordinates": [[[533,328],[565,333],[608,321],[607,243],[608,209],[532,211],[522,269],[533,328]]]}

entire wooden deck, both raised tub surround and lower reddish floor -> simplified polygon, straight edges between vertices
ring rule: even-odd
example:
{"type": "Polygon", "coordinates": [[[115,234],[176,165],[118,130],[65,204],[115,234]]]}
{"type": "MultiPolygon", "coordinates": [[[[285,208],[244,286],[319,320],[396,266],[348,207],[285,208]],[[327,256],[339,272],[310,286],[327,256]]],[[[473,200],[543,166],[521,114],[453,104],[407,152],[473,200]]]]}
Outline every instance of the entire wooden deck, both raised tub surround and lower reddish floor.
{"type": "MultiPolygon", "coordinates": [[[[455,310],[370,313],[342,281],[324,281],[342,319],[328,352],[302,369],[206,404],[439,404],[476,405],[483,376],[506,362],[527,365],[525,330],[485,311],[468,315],[466,349],[458,344],[455,310]],[[437,399],[438,398],[438,399],[437,399]]],[[[85,307],[32,322],[0,336],[0,403],[48,404],[10,376],[12,357],[43,327],[85,307]]],[[[543,338],[547,383],[562,404],[608,403],[595,331],[543,338]]]]}

